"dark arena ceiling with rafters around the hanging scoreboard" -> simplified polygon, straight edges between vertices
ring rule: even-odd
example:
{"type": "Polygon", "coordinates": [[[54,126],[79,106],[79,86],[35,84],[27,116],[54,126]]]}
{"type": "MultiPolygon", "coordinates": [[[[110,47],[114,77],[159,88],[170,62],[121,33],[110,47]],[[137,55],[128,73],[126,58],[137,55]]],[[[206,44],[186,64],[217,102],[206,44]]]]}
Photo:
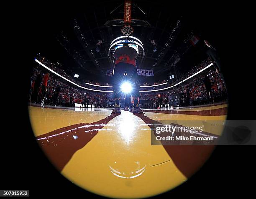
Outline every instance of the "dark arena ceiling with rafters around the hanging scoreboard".
{"type": "MultiPolygon", "coordinates": [[[[175,12],[175,7],[157,1],[132,2],[131,36],[139,38],[145,49],[144,57],[138,57],[138,68],[165,72],[174,64],[186,72],[206,58],[202,43],[206,37],[211,40],[211,35],[207,26],[202,27],[204,14],[175,12]],[[193,35],[200,38],[195,47],[189,42],[193,35]]],[[[73,71],[104,75],[113,68],[110,43],[123,35],[123,0],[96,2],[78,14],[49,13],[38,25],[46,34],[37,52],[73,71]]]]}

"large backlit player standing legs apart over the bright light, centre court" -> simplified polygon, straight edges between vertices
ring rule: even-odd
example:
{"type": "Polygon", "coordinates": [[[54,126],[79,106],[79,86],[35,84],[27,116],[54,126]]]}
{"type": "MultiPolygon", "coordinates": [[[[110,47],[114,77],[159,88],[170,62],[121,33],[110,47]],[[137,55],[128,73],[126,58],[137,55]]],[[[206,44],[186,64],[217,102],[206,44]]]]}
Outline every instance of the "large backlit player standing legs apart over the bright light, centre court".
{"type": "Polygon", "coordinates": [[[143,111],[139,107],[138,97],[139,95],[139,85],[137,80],[137,69],[135,57],[137,56],[137,51],[129,47],[128,43],[124,43],[122,47],[118,48],[114,52],[115,57],[115,72],[113,76],[113,100],[115,101],[115,109],[113,113],[121,113],[120,111],[120,96],[121,90],[120,85],[124,81],[124,73],[127,74],[127,80],[133,85],[133,91],[131,95],[133,96],[134,108],[133,113],[142,113],[143,111]]]}

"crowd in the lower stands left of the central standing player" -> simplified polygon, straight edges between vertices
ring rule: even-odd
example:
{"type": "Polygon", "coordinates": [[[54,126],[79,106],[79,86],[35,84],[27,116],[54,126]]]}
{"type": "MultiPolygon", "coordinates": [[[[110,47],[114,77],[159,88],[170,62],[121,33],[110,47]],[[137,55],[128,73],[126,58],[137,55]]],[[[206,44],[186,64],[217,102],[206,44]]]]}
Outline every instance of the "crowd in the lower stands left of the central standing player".
{"type": "MultiPolygon", "coordinates": [[[[42,102],[42,86],[40,85],[36,89],[37,79],[43,78],[47,72],[42,72],[40,70],[34,69],[33,75],[31,76],[31,92],[29,96],[29,101],[34,103],[42,102]]],[[[56,75],[51,75],[47,82],[46,97],[44,99],[44,104],[54,105],[54,106],[64,106],[64,107],[74,107],[74,103],[94,105],[99,108],[108,108],[107,101],[110,100],[111,96],[107,93],[94,93],[85,92],[73,86],[67,85],[56,75]]]]}

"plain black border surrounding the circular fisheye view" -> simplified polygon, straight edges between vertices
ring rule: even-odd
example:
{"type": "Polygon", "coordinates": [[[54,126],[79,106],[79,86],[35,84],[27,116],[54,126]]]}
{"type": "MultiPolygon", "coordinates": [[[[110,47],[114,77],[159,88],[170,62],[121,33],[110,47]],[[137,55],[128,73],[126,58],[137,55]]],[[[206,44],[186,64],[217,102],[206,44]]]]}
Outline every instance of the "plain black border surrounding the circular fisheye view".
{"type": "MultiPolygon", "coordinates": [[[[56,7],[61,12],[50,14],[48,9],[52,5],[24,7],[22,13],[13,10],[11,15],[14,19],[9,25],[14,30],[9,30],[11,38],[7,41],[10,50],[3,49],[10,58],[8,55],[5,57],[6,63],[1,68],[2,80],[7,78],[2,84],[2,99],[6,97],[6,100],[2,103],[5,109],[2,110],[0,189],[24,189],[29,190],[30,196],[42,197],[99,197],[77,187],[57,172],[35,142],[27,107],[30,66],[34,64],[31,57],[36,48],[34,41],[38,37],[42,42],[46,40],[45,33],[49,30],[46,27],[54,27],[56,24],[52,19],[63,16],[67,11],[56,7]]],[[[187,12],[181,8],[182,12],[187,12]]],[[[255,119],[255,96],[249,103],[241,101],[242,95],[255,93],[253,62],[249,60],[252,37],[248,20],[251,16],[246,9],[241,5],[234,7],[217,3],[200,6],[195,2],[187,12],[206,30],[211,30],[216,38],[215,46],[220,50],[225,65],[223,74],[229,98],[227,119],[230,120],[255,119]],[[202,12],[207,17],[201,17],[202,12]]],[[[218,146],[187,182],[157,197],[183,197],[184,194],[189,194],[189,197],[248,196],[255,189],[254,160],[255,147],[218,146]]]]}

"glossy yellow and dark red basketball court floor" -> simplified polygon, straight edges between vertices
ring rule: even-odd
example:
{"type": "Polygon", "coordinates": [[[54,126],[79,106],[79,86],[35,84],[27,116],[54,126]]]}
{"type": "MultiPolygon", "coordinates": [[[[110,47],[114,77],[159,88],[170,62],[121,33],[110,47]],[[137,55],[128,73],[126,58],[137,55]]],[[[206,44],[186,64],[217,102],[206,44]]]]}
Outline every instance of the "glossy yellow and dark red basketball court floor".
{"type": "MultiPolygon", "coordinates": [[[[151,123],[223,121],[227,104],[145,109],[133,115],[111,109],[29,105],[33,132],[54,166],[78,186],[108,197],[148,197],[186,181],[212,146],[152,146],[151,123]],[[61,109],[60,109],[61,108],[61,109]],[[184,120],[184,121],[183,121],[184,120]]],[[[191,123],[190,123],[191,124],[191,123]]],[[[210,132],[215,136],[221,130],[210,132]]]]}

